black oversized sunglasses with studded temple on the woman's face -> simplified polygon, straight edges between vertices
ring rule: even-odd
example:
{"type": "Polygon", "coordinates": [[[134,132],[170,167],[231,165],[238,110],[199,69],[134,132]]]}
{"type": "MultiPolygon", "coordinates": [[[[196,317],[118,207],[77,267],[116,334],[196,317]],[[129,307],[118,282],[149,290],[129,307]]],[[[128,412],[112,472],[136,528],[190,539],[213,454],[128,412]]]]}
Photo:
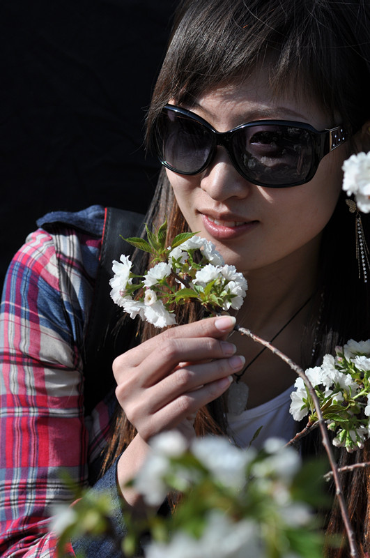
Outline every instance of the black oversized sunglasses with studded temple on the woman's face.
{"type": "Polygon", "coordinates": [[[194,112],[166,105],[155,122],[153,142],[162,165],[198,174],[224,146],[236,170],[257,186],[288,188],[309,182],[318,163],[348,140],[341,126],[318,132],[309,124],[259,120],[217,132],[194,112]]]}

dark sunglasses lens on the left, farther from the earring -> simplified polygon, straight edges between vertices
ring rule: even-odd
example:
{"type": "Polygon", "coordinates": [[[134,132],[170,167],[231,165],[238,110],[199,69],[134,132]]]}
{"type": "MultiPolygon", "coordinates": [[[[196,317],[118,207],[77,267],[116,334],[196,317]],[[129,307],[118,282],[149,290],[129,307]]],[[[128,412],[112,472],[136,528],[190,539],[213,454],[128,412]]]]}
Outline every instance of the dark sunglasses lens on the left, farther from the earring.
{"type": "Polygon", "coordinates": [[[210,134],[201,123],[164,109],[157,123],[157,146],[162,162],[177,172],[196,174],[210,155],[210,134]]]}

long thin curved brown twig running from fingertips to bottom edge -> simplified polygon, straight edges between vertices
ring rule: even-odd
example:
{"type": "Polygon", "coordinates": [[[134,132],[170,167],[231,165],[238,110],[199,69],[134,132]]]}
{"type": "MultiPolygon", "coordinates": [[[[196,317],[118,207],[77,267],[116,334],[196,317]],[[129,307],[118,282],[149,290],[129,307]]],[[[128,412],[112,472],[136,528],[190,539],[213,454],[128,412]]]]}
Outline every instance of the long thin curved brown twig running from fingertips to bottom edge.
{"type": "Polygon", "coordinates": [[[344,521],[344,527],[346,529],[346,534],[347,534],[348,542],[349,542],[349,545],[350,545],[350,557],[351,558],[359,558],[357,545],[356,545],[356,542],[355,542],[355,534],[353,532],[352,526],[350,525],[350,520],[348,518],[348,511],[347,511],[347,507],[346,507],[346,502],[344,500],[344,495],[343,495],[343,491],[342,491],[342,488],[341,488],[341,481],[339,480],[339,473],[338,473],[337,463],[335,462],[335,459],[334,459],[334,454],[332,452],[332,446],[330,444],[329,435],[327,434],[327,428],[325,426],[325,421],[323,419],[323,414],[321,413],[320,402],[318,401],[318,397],[316,395],[314,387],[312,386],[311,382],[309,382],[309,379],[305,375],[305,372],[302,370],[302,368],[300,368],[300,366],[298,366],[298,364],[295,364],[295,362],[293,362],[291,359],[289,359],[289,357],[286,356],[286,354],[279,351],[279,349],[277,349],[277,347],[274,347],[274,345],[271,345],[270,342],[268,342],[265,339],[259,337],[258,335],[255,335],[249,329],[246,329],[246,328],[238,326],[238,325],[236,325],[234,329],[236,331],[238,331],[239,333],[241,333],[242,335],[247,335],[249,338],[251,338],[255,342],[260,343],[260,345],[263,345],[263,347],[267,347],[268,349],[270,349],[270,351],[273,354],[276,354],[276,356],[279,356],[280,359],[282,359],[286,364],[288,364],[291,367],[291,369],[294,370],[294,372],[296,374],[298,374],[298,376],[300,378],[302,378],[303,382],[305,382],[305,384],[307,385],[307,388],[308,388],[309,393],[312,397],[312,400],[314,401],[316,414],[318,416],[318,421],[317,422],[318,422],[318,426],[321,430],[323,446],[324,446],[325,451],[327,453],[327,458],[329,459],[329,462],[330,462],[330,469],[332,469],[332,476],[334,478],[334,484],[335,484],[335,493],[336,493],[338,501],[339,501],[339,507],[341,509],[341,516],[342,516],[343,521],[344,521]]]}

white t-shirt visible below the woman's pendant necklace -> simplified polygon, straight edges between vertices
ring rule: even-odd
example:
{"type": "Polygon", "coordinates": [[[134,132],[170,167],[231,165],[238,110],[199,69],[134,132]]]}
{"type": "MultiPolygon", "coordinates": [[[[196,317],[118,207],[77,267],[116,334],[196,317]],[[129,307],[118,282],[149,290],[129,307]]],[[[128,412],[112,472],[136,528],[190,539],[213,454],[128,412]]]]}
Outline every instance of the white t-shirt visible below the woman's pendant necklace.
{"type": "Polygon", "coordinates": [[[254,448],[261,448],[265,439],[278,437],[288,442],[298,432],[298,423],[289,413],[291,406],[291,392],[293,386],[289,387],[274,399],[247,409],[239,415],[227,414],[229,421],[228,434],[241,448],[249,446],[256,431],[262,426],[258,437],[252,442],[254,448]]]}

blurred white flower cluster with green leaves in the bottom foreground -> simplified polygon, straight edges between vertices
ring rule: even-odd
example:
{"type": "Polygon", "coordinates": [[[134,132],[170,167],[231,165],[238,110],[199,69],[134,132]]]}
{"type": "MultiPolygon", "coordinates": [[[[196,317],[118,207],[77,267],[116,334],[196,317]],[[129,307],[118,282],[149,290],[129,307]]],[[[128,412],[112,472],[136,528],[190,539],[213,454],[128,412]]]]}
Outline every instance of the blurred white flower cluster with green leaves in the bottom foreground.
{"type": "Polygon", "coordinates": [[[163,518],[162,529],[155,518],[146,558],[321,556],[311,508],[304,498],[296,499],[300,458],[282,441],[269,439],[260,453],[223,437],[194,439],[187,448],[173,431],[151,446],[135,488],[148,504],[160,504],[178,490],[183,500],[176,513],[163,518]]]}

